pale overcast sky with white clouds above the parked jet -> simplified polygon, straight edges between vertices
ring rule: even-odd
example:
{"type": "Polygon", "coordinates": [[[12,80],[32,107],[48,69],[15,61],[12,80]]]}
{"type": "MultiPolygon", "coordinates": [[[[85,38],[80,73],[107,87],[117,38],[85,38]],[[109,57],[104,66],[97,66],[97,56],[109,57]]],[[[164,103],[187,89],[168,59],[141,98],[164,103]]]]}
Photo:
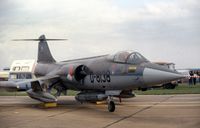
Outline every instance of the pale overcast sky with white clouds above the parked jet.
{"type": "Polygon", "coordinates": [[[37,42],[49,42],[57,61],[135,50],[150,61],[200,67],[199,0],[0,0],[0,68],[36,59],[37,42]]]}

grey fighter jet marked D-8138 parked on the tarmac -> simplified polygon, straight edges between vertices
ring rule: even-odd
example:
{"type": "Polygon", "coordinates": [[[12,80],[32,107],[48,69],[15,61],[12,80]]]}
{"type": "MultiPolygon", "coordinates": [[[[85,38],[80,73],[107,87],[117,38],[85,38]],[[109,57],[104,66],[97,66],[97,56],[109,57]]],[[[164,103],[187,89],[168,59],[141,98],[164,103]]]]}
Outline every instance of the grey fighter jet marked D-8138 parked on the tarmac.
{"type": "MultiPolygon", "coordinates": [[[[56,62],[46,39],[24,39],[39,41],[36,78],[18,82],[1,82],[0,87],[21,90],[44,103],[57,102],[57,97],[67,90],[78,90],[75,99],[79,102],[107,101],[108,111],[115,111],[113,97],[133,97],[132,90],[146,89],[153,85],[181,79],[184,76],[168,68],[151,63],[135,51],[121,51],[88,58],[56,62]],[[56,89],[56,94],[52,93],[56,89]]],[[[59,40],[59,39],[58,39],[59,40]]],[[[19,41],[19,40],[18,40],[19,41]]]]}

